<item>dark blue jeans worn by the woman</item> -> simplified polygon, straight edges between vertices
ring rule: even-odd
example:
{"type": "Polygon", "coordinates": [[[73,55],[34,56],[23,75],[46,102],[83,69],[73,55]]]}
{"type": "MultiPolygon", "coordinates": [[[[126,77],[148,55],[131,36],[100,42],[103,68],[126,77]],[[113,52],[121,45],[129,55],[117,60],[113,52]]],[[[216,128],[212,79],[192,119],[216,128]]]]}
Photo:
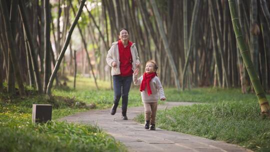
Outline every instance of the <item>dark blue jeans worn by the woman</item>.
{"type": "Polygon", "coordinates": [[[122,96],[122,114],[125,115],[128,103],[128,92],[132,82],[132,75],[130,76],[113,75],[112,80],[114,90],[113,102],[115,105],[118,105],[120,97],[122,96]]]}

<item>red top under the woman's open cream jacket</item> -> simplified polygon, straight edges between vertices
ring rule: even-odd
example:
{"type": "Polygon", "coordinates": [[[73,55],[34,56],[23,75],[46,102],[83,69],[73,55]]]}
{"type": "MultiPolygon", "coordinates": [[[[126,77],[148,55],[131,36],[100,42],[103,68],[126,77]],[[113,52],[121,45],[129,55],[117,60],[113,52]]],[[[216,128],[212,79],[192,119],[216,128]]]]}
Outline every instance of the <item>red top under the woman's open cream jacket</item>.
{"type": "Polygon", "coordinates": [[[122,41],[118,40],[118,51],[119,51],[119,61],[120,61],[120,75],[130,76],[133,73],[132,70],[132,55],[130,51],[130,46],[132,42],[128,40],[127,46],[123,46],[122,41]]]}

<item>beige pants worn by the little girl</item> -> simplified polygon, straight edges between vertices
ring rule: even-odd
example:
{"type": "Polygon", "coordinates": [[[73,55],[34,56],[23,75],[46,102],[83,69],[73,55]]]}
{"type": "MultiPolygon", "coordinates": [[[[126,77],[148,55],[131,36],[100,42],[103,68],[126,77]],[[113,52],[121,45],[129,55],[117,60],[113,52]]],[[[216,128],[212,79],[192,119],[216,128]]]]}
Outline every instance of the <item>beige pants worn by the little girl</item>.
{"type": "Polygon", "coordinates": [[[143,102],[143,105],[144,105],[144,119],[150,120],[150,124],[155,124],[157,102],[143,102]]]}

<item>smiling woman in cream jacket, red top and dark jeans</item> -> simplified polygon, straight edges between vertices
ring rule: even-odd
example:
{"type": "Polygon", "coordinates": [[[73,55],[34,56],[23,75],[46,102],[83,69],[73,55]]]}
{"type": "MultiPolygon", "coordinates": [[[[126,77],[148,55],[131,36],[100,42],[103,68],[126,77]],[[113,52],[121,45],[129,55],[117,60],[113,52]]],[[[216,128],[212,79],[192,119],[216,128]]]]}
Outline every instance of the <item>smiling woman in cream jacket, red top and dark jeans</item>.
{"type": "Polygon", "coordinates": [[[111,115],[114,115],[122,96],[122,119],[127,120],[126,109],[128,92],[132,82],[132,73],[139,66],[139,57],[135,43],[128,40],[129,32],[121,28],[118,33],[119,40],[113,42],[108,50],[106,61],[111,66],[114,98],[111,115]]]}

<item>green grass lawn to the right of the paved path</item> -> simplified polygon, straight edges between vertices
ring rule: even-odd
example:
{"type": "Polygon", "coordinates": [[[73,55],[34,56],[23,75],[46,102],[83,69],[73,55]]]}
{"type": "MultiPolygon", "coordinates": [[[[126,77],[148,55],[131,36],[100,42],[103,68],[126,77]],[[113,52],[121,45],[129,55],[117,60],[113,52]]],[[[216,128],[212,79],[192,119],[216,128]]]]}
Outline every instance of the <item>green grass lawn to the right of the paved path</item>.
{"type": "MultiPolygon", "coordinates": [[[[241,94],[236,88],[194,88],[180,93],[167,88],[165,93],[170,94],[168,100],[201,104],[158,111],[157,127],[270,151],[270,118],[260,115],[255,94],[241,94]]],[[[135,119],[144,122],[143,114],[135,119]]]]}

